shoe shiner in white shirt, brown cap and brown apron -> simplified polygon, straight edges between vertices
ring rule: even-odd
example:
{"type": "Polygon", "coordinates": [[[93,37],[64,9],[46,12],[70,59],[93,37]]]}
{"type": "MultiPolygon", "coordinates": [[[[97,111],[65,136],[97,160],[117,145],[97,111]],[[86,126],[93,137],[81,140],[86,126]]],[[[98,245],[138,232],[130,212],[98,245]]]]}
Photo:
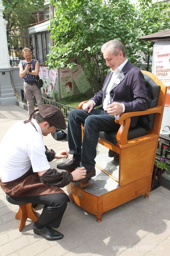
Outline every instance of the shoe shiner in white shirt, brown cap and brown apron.
{"type": "Polygon", "coordinates": [[[43,136],[56,128],[66,128],[62,112],[53,105],[41,105],[35,119],[16,122],[0,143],[0,186],[15,200],[44,205],[33,230],[47,240],[63,237],[53,229],[59,227],[69,200],[60,187],[86,174],[85,167],[72,173],[50,169],[48,162],[68,157],[67,151],[57,154],[43,143],[43,136]]]}

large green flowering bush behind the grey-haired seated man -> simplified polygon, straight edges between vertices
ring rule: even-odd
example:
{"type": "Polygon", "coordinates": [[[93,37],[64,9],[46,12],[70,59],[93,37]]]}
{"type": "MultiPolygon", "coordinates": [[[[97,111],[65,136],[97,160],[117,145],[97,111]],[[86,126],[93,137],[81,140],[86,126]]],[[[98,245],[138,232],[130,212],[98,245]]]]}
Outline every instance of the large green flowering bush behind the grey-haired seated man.
{"type": "Polygon", "coordinates": [[[138,38],[169,26],[167,5],[151,4],[151,0],[139,0],[139,8],[129,0],[51,3],[56,12],[51,20],[54,47],[48,55],[48,67],[73,69],[77,63],[82,64],[94,92],[101,89],[108,73],[100,51],[102,44],[118,38],[126,47],[127,58],[140,67],[152,48],[150,42],[138,38]]]}

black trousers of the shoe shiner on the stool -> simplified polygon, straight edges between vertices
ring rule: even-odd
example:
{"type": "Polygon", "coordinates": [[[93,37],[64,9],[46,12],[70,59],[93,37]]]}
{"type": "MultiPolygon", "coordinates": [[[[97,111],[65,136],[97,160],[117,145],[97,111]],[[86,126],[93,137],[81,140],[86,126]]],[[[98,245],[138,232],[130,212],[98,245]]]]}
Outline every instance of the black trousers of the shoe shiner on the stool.
{"type": "Polygon", "coordinates": [[[54,228],[59,227],[68,203],[68,196],[64,193],[11,198],[26,203],[44,205],[37,223],[54,228]]]}

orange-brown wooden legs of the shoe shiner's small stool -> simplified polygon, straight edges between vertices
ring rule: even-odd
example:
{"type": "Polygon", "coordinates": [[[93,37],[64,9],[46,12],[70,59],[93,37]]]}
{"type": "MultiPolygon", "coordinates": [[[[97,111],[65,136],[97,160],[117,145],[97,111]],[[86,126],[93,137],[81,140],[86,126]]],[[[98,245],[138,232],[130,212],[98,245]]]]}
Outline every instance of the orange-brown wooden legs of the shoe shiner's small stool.
{"type": "Polygon", "coordinates": [[[31,221],[36,222],[38,217],[35,214],[35,209],[32,207],[32,204],[22,204],[19,205],[19,210],[15,215],[15,218],[20,220],[19,231],[23,229],[26,225],[27,218],[30,218],[31,221]]]}

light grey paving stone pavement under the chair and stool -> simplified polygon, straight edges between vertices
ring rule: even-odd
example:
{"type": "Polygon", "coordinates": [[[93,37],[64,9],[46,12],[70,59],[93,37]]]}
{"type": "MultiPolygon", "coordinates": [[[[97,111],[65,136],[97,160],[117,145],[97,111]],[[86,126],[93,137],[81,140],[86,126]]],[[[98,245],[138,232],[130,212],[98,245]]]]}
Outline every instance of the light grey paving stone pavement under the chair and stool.
{"type": "MultiPolygon", "coordinates": [[[[28,119],[25,109],[0,106],[0,140],[21,119],[28,119]]],[[[44,142],[55,151],[68,150],[67,141],[54,140],[51,134],[44,137],[44,142]]],[[[107,151],[101,145],[97,148],[98,154],[107,151]]],[[[51,168],[62,161],[54,160],[51,168]]],[[[163,187],[150,192],[148,199],[142,195],[105,212],[99,223],[96,216],[71,200],[58,228],[64,234],[59,241],[35,235],[29,219],[19,232],[17,210],[18,206],[9,204],[0,189],[0,256],[170,256],[170,191],[163,187]]],[[[38,205],[36,211],[39,215],[42,206],[38,205]]]]}

